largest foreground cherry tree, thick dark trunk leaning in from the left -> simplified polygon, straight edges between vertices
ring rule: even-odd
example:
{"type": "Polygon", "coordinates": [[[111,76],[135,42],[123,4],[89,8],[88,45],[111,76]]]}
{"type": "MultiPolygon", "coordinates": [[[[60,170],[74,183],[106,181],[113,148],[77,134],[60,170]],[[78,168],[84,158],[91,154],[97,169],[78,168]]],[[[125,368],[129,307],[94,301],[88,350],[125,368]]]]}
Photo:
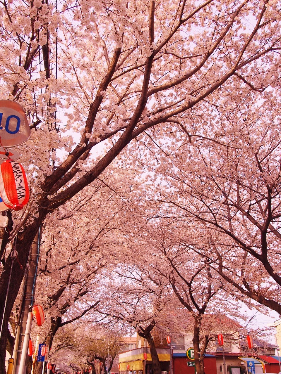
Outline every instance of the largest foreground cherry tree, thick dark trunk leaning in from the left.
{"type": "MultiPolygon", "coordinates": [[[[9,237],[17,236],[23,269],[46,216],[99,178],[132,140],[166,142],[182,128],[188,133],[194,111],[205,116],[209,103],[225,106],[240,90],[269,95],[279,79],[280,10],[268,0],[1,4],[1,97],[18,100],[32,128],[19,147],[30,204],[13,215],[9,237]],[[93,153],[101,141],[104,150],[93,153]]],[[[6,257],[0,316],[10,266],[6,257]]],[[[24,275],[14,267],[0,374],[24,275]]]]}

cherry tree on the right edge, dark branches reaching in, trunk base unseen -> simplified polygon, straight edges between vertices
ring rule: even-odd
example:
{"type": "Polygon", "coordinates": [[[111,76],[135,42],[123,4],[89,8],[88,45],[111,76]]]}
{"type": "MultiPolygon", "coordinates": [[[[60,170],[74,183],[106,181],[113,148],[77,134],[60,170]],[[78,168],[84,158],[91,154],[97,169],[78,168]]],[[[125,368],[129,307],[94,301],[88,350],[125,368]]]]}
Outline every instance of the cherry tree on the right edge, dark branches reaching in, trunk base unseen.
{"type": "Polygon", "coordinates": [[[261,123],[260,113],[248,108],[250,118],[238,141],[232,132],[230,147],[209,145],[204,154],[198,148],[194,166],[200,163],[200,175],[191,171],[183,199],[172,204],[205,227],[208,254],[196,249],[212,267],[243,295],[280,313],[279,115],[266,109],[271,117],[261,123]]]}

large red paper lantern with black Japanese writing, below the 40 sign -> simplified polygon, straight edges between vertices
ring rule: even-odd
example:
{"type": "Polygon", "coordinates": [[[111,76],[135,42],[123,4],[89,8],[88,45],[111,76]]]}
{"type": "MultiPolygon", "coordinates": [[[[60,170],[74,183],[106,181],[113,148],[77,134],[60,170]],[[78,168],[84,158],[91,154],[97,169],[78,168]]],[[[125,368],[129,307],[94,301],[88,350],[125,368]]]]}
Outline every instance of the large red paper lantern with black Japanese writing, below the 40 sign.
{"type": "Polygon", "coordinates": [[[24,168],[20,163],[6,160],[0,165],[0,193],[4,204],[15,211],[29,200],[29,189],[24,168]]]}

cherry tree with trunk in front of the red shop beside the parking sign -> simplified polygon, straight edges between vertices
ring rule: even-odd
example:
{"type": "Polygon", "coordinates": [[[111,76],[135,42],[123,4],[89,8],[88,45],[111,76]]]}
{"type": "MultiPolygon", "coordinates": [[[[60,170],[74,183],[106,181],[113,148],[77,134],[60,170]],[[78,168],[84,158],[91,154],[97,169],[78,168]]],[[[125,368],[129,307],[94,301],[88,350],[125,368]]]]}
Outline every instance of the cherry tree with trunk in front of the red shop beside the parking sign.
{"type": "MultiPolygon", "coordinates": [[[[223,315],[227,313],[237,318],[240,313],[230,298],[225,297],[225,281],[211,268],[208,258],[202,259],[185,245],[187,240],[190,243],[196,242],[198,232],[182,230],[178,223],[173,222],[173,217],[163,220],[155,217],[153,220],[149,218],[149,222],[146,219],[141,221],[141,214],[145,210],[146,205],[138,209],[138,202],[135,209],[132,209],[131,214],[138,215],[138,230],[130,232],[135,236],[135,242],[130,244],[135,254],[128,261],[131,263],[131,270],[123,270],[118,274],[139,284],[144,284],[145,279],[149,279],[157,292],[161,292],[162,297],[165,295],[167,305],[170,304],[166,313],[175,316],[176,310],[179,314],[176,319],[180,323],[177,326],[166,318],[162,324],[166,322],[166,327],[176,338],[186,331],[188,335],[192,335],[196,372],[203,374],[206,349],[210,347],[210,342],[214,344],[219,332],[223,332],[226,340],[232,343],[238,341],[241,325],[235,326],[233,319],[224,318],[223,315]],[[138,259],[140,253],[143,256],[138,259]],[[220,317],[224,321],[218,328],[220,317]]],[[[152,216],[151,212],[149,215],[152,216]]],[[[127,220],[130,222],[129,217],[127,220]]],[[[127,226],[124,230],[127,233],[131,228],[127,226]]],[[[126,304],[126,296],[123,298],[126,304]]],[[[241,317],[243,319],[244,316],[241,317]]]]}

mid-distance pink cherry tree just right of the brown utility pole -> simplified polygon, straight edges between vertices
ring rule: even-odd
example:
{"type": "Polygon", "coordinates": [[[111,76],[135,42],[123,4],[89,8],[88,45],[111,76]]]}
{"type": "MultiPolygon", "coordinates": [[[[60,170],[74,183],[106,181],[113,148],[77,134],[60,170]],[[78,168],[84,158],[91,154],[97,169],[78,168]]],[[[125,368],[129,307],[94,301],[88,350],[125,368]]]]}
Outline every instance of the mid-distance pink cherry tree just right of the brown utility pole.
{"type": "MultiPolygon", "coordinates": [[[[115,266],[116,247],[121,245],[116,239],[118,212],[122,211],[120,197],[115,195],[130,188],[123,183],[118,189],[119,184],[118,178],[111,188],[97,183],[70,200],[65,211],[56,212],[52,222],[46,220],[36,303],[46,313],[48,329],[43,341],[50,347],[58,329],[87,317],[99,303],[98,283],[115,266]],[[91,200],[93,194],[95,200],[91,200]]],[[[40,330],[42,336],[42,327],[33,330],[35,335],[40,330]]],[[[36,370],[42,371],[41,363],[36,370]]]]}

